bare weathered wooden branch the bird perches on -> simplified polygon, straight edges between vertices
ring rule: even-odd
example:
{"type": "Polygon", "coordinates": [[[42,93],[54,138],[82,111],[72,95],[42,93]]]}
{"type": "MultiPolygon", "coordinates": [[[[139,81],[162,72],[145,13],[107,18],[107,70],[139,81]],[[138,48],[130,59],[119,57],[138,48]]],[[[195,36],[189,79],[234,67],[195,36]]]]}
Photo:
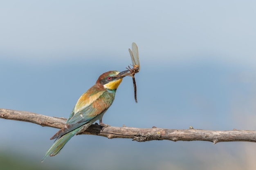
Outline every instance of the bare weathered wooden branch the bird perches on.
{"type": "MultiPolygon", "coordinates": [[[[62,128],[67,119],[49,117],[27,111],[0,109],[0,118],[17,121],[26,121],[40,126],[62,128]]],[[[87,130],[80,133],[86,135],[98,135],[112,138],[130,138],[134,141],[171,140],[171,141],[211,141],[213,144],[222,141],[249,141],[256,142],[256,131],[253,130],[201,130],[201,129],[164,129],[164,128],[130,128],[112,127],[103,128],[93,124],[87,130]]]]}

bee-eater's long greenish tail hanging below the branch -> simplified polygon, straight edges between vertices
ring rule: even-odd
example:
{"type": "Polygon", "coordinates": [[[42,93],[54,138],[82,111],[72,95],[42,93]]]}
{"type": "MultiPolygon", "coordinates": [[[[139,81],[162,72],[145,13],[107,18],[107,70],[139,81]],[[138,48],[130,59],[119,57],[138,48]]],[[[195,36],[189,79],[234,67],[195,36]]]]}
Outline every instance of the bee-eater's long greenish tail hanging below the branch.
{"type": "Polygon", "coordinates": [[[60,138],[56,139],[56,141],[54,141],[53,145],[51,148],[49,148],[49,150],[46,152],[45,157],[43,158],[43,160],[41,162],[43,162],[45,160],[45,158],[47,156],[53,157],[55,155],[57,155],[61,149],[63,148],[63,146],[65,144],[67,144],[67,142],[76,134],[76,132],[78,132],[80,130],[80,128],[77,128],[71,132],[66,133],[65,135],[62,135],[60,138]]]}

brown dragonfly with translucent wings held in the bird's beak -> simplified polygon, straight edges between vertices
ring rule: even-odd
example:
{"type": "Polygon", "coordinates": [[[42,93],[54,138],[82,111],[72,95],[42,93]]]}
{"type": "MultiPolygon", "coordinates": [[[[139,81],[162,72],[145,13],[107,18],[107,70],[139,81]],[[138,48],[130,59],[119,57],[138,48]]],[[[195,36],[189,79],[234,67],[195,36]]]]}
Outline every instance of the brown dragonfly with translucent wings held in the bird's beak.
{"type": "Polygon", "coordinates": [[[130,68],[130,66],[128,66],[128,71],[130,71],[130,76],[132,77],[132,82],[133,82],[133,88],[134,88],[134,99],[135,102],[137,103],[137,87],[136,87],[136,82],[135,82],[135,77],[134,75],[136,73],[139,73],[140,70],[140,65],[139,65],[139,53],[138,53],[138,47],[135,44],[135,42],[132,42],[132,50],[129,49],[129,53],[131,56],[131,60],[132,60],[132,68],[130,68]]]}

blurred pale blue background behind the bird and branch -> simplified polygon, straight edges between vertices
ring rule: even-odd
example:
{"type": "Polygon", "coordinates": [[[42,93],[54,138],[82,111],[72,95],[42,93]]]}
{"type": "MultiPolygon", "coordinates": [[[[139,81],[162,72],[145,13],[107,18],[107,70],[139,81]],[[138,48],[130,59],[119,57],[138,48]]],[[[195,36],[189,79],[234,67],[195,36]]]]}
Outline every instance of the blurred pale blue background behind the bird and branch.
{"type": "MultiPolygon", "coordinates": [[[[106,71],[124,71],[136,42],[136,104],[125,77],[103,117],[111,126],[256,130],[256,2],[1,1],[0,108],[68,117],[106,71]]],[[[254,170],[256,144],[73,137],[0,119],[1,169],[254,170]]]]}

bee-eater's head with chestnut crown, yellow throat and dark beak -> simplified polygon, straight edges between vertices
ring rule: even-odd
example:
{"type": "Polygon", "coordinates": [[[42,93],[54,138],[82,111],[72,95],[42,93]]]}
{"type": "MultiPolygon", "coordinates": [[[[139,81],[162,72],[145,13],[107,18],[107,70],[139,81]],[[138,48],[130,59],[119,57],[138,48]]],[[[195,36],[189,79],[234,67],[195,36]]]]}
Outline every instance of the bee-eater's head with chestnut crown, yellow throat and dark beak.
{"type": "Polygon", "coordinates": [[[96,84],[101,84],[106,90],[115,91],[122,82],[122,79],[130,74],[128,72],[130,71],[108,71],[99,76],[96,84]]]}

